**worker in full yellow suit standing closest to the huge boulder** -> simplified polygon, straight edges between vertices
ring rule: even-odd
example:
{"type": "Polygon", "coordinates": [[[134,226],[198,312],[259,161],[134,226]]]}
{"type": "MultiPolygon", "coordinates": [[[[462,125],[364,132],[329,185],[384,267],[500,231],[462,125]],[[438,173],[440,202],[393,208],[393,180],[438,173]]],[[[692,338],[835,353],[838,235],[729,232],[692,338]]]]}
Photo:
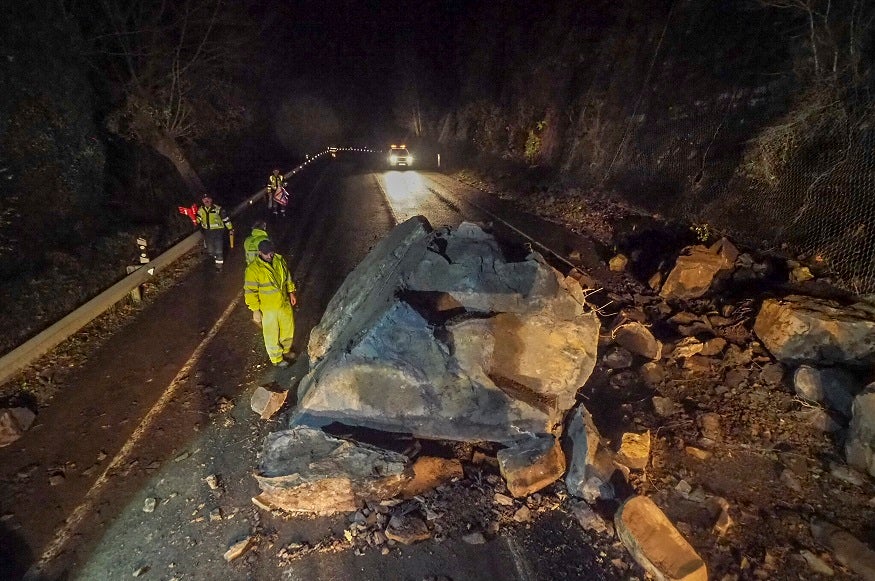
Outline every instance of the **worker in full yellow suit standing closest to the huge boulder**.
{"type": "Polygon", "coordinates": [[[261,325],[270,362],[277,367],[288,367],[287,358],[294,357],[295,317],[292,307],[298,299],[289,266],[285,258],[276,253],[270,240],[258,244],[258,256],[246,267],[243,298],[252,311],[252,320],[261,325]]]}

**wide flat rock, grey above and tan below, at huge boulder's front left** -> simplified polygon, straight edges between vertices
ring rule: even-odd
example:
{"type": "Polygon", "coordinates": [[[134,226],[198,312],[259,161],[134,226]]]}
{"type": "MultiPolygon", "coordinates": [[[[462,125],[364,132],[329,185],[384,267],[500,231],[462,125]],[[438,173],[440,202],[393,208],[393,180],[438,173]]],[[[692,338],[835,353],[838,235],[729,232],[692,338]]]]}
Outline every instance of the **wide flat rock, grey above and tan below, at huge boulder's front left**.
{"type": "Polygon", "coordinates": [[[265,438],[255,475],[262,492],[253,501],[289,512],[352,512],[398,495],[412,476],[406,456],[297,427],[265,438]]]}

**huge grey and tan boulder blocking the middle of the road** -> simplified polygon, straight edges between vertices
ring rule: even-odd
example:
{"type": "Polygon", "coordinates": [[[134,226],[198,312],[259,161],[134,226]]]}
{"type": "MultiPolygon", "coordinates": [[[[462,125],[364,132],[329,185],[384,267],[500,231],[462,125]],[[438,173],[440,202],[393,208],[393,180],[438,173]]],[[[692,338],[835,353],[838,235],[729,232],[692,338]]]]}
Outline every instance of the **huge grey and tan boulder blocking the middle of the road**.
{"type": "Polygon", "coordinates": [[[332,299],[293,424],[496,442],[553,432],[595,366],[599,322],[579,284],[537,254],[508,262],[476,225],[425,230],[396,227],[400,248],[379,244],[332,299]]]}

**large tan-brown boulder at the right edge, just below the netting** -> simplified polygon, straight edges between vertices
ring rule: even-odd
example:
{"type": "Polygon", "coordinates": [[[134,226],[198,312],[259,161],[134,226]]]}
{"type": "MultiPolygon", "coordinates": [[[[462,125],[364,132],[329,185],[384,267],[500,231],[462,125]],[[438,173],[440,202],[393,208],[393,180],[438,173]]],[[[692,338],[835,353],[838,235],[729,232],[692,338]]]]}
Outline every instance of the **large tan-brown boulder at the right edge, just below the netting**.
{"type": "Polygon", "coordinates": [[[767,299],[753,329],[783,363],[851,367],[875,363],[875,317],[864,308],[795,295],[767,299]]]}

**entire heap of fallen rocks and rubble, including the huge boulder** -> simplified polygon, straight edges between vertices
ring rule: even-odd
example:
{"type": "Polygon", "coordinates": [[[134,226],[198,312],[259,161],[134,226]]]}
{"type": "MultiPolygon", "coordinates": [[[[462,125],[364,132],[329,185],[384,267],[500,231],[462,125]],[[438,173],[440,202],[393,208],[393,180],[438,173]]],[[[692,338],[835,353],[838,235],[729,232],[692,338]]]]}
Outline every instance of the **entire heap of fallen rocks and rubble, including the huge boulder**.
{"type": "MultiPolygon", "coordinates": [[[[715,542],[744,515],[726,494],[652,478],[672,446],[708,462],[749,436],[726,433],[711,410],[786,403],[777,395],[792,369],[799,395],[785,399],[810,402],[794,414],[847,434],[850,466],[836,462],[835,472],[868,486],[863,473],[875,475],[875,386],[861,383],[875,362],[875,313],[790,296],[766,300],[754,320],[752,301],[707,298],[721,281],[761,272],[728,241],[692,247],[664,282],[656,274],[650,289],[615,296],[622,308],[608,316],[587,303],[586,275],[563,276],[536,253],[513,256],[474,224],[432,231],[414,218],[350,274],[312,332],[309,373],[289,429],[265,441],[253,500],[349,513],[346,540],[384,551],[445,535],[484,542],[561,504],[584,528],[616,534],[656,578],[706,579],[688,542],[695,531],[667,507],[692,504],[715,542]],[[337,425],[361,436],[328,433],[337,425]],[[421,454],[407,445],[419,439],[461,452],[421,454]],[[454,526],[452,499],[464,494],[484,508],[454,526]]],[[[259,411],[273,413],[285,396],[259,397],[259,411]]],[[[751,429],[794,437],[789,423],[751,429]]],[[[847,533],[811,526],[839,562],[869,566],[871,552],[849,551],[847,533]]],[[[286,548],[284,558],[308,550],[286,548]]],[[[829,568],[808,553],[812,568],[829,568]]]]}

